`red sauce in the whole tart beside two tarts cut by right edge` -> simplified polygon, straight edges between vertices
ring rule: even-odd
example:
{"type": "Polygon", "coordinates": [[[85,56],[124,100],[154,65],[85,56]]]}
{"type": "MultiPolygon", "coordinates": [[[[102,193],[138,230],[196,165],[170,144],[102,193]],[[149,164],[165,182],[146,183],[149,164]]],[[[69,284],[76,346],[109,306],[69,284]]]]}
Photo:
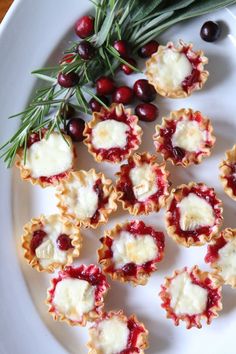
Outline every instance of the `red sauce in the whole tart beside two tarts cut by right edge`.
{"type": "Polygon", "coordinates": [[[206,202],[208,202],[214,211],[214,216],[215,216],[215,223],[213,226],[200,226],[199,228],[195,230],[187,230],[184,231],[180,227],[180,211],[178,208],[178,202],[174,198],[170,204],[169,210],[171,213],[171,216],[169,216],[169,223],[170,225],[174,225],[176,228],[176,232],[179,236],[188,239],[189,237],[192,237],[194,241],[199,241],[199,238],[201,235],[207,235],[209,236],[212,228],[219,223],[219,221],[222,219],[221,215],[221,209],[218,207],[219,201],[215,196],[215,193],[213,189],[208,188],[206,190],[203,190],[202,188],[198,186],[193,186],[192,188],[184,187],[183,188],[183,198],[187,197],[190,193],[195,193],[198,197],[204,199],[206,202]]]}

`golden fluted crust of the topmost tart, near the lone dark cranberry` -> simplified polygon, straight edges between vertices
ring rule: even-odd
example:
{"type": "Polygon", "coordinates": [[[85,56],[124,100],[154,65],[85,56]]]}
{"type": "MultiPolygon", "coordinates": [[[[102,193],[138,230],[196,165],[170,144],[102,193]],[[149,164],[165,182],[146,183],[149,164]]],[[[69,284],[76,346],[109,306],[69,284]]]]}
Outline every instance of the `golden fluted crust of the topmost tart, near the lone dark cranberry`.
{"type": "Polygon", "coordinates": [[[190,96],[193,91],[200,90],[208,79],[209,72],[204,70],[204,65],[208,63],[207,57],[204,56],[204,52],[193,51],[193,44],[186,44],[182,40],[179,41],[179,46],[175,47],[173,42],[168,42],[166,46],[160,45],[158,51],[154,53],[151,58],[146,62],[146,76],[150,84],[152,84],[159,95],[169,98],[185,98],[190,96]],[[158,65],[158,58],[161,56],[167,48],[175,48],[178,52],[182,52],[184,48],[188,48],[188,53],[192,58],[199,58],[201,62],[197,66],[197,70],[200,72],[199,81],[189,88],[188,92],[184,91],[182,88],[175,90],[168,90],[161,87],[155,78],[155,73],[152,70],[153,65],[158,65]]]}

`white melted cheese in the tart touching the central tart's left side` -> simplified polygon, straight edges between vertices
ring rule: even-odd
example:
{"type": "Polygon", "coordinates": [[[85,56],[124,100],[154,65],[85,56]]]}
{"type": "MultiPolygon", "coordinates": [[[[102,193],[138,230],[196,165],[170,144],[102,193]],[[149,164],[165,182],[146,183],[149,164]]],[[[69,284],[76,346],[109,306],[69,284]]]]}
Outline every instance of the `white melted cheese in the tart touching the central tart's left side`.
{"type": "Polygon", "coordinates": [[[67,184],[69,193],[62,196],[69,207],[69,212],[75,213],[78,218],[85,220],[91,218],[98,208],[98,194],[94,190],[96,178],[87,174],[83,181],[74,179],[67,184]]]}

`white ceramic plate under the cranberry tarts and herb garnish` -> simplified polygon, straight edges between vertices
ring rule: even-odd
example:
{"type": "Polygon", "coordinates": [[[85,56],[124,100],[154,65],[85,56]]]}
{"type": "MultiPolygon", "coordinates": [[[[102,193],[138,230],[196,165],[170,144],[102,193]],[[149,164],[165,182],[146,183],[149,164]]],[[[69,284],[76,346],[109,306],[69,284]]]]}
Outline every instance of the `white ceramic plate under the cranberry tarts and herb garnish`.
{"type": "MultiPolygon", "coordinates": [[[[72,38],[75,20],[89,11],[88,0],[15,0],[9,13],[0,25],[0,141],[4,142],[17,127],[17,121],[6,118],[24,109],[36,80],[29,73],[45,62],[55,63],[63,48],[72,38]]],[[[224,203],[225,226],[236,227],[235,203],[224,195],[218,181],[218,163],[224,151],[235,143],[236,133],[236,6],[221,10],[205,17],[176,25],[161,38],[168,40],[192,41],[196,49],[203,49],[210,59],[210,78],[205,88],[185,100],[157,99],[160,116],[172,109],[192,107],[212,118],[217,137],[213,154],[200,166],[186,170],[170,168],[174,185],[189,181],[203,181],[215,187],[224,203]],[[199,30],[206,20],[223,21],[222,39],[215,44],[203,42],[199,30]]],[[[124,77],[122,77],[124,79],[124,77]]],[[[130,84],[137,75],[130,78],[130,84]]],[[[142,124],[144,129],[141,151],[152,151],[150,139],[153,124],[142,124]]],[[[117,167],[96,164],[87,154],[83,145],[79,146],[78,168],[95,167],[113,177],[117,167]]],[[[69,328],[56,323],[47,314],[44,304],[49,276],[38,274],[23,260],[20,248],[22,226],[31,217],[56,210],[53,189],[41,190],[19,179],[19,172],[6,170],[0,162],[0,353],[1,354],[84,354],[87,352],[86,328],[69,328]]],[[[114,178],[114,177],[113,177],[114,178]]],[[[146,222],[164,230],[163,211],[143,217],[146,222]]],[[[105,228],[117,222],[132,219],[119,210],[112,215],[105,228]]],[[[84,247],[79,262],[96,262],[95,251],[103,228],[85,231],[84,247]]],[[[166,256],[159,270],[145,287],[132,288],[112,282],[106,298],[106,308],[124,309],[129,315],[135,312],[150,331],[148,353],[165,354],[234,354],[236,292],[230,287],[223,289],[224,309],[211,326],[201,330],[187,331],[182,324],[175,327],[165,318],[157,293],[165,275],[175,268],[204,264],[206,247],[184,249],[166,237],[166,256]]]]}

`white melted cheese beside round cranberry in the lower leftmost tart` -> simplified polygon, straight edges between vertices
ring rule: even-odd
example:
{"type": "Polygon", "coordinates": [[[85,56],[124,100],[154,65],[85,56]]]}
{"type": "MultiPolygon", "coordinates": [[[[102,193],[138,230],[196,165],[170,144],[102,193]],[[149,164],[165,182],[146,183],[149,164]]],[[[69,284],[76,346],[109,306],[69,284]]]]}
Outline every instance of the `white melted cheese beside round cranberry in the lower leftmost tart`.
{"type": "Polygon", "coordinates": [[[57,246],[58,236],[64,233],[63,224],[58,220],[57,215],[47,217],[43,231],[47,233],[47,237],[35,250],[41,266],[46,268],[54,262],[65,263],[67,252],[60,250],[57,246]]]}

